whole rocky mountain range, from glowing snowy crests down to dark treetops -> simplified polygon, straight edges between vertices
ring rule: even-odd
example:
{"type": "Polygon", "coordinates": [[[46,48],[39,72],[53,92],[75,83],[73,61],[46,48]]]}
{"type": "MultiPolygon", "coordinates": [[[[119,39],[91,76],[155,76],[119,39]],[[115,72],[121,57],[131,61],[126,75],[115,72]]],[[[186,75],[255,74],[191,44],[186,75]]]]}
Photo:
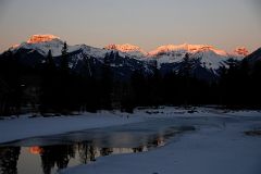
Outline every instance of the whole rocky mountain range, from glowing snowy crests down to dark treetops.
{"type": "MultiPolygon", "coordinates": [[[[51,51],[54,61],[59,63],[63,41],[53,35],[34,35],[27,41],[12,47],[10,50],[25,64],[36,65],[45,62],[51,51]]],[[[99,76],[104,58],[110,54],[110,66],[117,78],[129,78],[133,72],[152,74],[154,66],[162,74],[182,73],[184,58],[187,54],[190,63],[190,74],[202,79],[219,78],[220,69],[227,66],[229,59],[243,60],[248,54],[247,49],[238,48],[229,54],[208,45],[167,45],[146,52],[133,45],[109,45],[103,49],[86,45],[69,46],[70,67],[78,73],[91,73],[99,76]]],[[[249,58],[251,59],[251,58],[249,58]]]]}

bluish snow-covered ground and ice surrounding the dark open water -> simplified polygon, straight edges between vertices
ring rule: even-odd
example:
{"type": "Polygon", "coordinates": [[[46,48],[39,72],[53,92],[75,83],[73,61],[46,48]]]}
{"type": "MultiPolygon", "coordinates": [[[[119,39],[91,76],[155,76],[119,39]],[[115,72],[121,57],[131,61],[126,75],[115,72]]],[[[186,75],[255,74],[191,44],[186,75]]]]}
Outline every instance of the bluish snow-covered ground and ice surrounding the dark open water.
{"type": "Polygon", "coordinates": [[[85,113],[78,116],[35,117],[0,121],[0,141],[101,128],[148,120],[170,119],[191,124],[196,132],[173,137],[166,146],[148,152],[98,158],[87,165],[69,167],[63,174],[260,174],[261,136],[244,132],[261,128],[257,111],[225,112],[198,108],[142,109],[134,114],[85,113]]]}

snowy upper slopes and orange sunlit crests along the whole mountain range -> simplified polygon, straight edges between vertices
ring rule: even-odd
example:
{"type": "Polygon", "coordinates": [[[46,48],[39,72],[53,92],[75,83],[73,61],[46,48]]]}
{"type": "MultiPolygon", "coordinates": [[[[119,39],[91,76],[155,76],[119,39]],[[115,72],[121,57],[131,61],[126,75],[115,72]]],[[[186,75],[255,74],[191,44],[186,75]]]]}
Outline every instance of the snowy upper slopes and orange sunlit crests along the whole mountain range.
{"type": "MultiPolygon", "coordinates": [[[[34,35],[26,42],[14,46],[11,50],[17,51],[18,49],[36,50],[42,55],[47,55],[51,50],[53,57],[61,55],[63,41],[53,35],[34,35]]],[[[135,59],[151,60],[156,59],[158,64],[162,63],[178,63],[183,61],[186,53],[191,58],[200,59],[202,66],[216,70],[223,65],[224,61],[232,57],[223,50],[215,49],[208,45],[167,45],[161,46],[153,51],[147,53],[140,47],[134,45],[109,45],[104,49],[94,48],[86,45],[67,46],[69,52],[82,50],[86,55],[95,58],[104,58],[108,52],[119,51],[120,55],[130,57],[135,59]]],[[[237,49],[233,57],[238,54],[246,54],[246,49],[237,49]]]]}

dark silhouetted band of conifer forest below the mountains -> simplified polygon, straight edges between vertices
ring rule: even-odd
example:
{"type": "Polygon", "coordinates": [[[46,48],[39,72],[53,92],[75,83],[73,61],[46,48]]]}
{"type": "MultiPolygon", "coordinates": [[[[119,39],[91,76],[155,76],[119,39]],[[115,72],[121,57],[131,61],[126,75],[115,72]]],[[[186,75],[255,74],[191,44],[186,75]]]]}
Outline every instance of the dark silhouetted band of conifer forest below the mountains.
{"type": "Polygon", "coordinates": [[[49,51],[42,64],[27,66],[11,51],[0,59],[0,115],[26,112],[70,114],[73,111],[136,107],[217,104],[228,108],[261,108],[261,62],[228,61],[215,82],[201,80],[190,73],[188,54],[181,73],[162,75],[157,65],[152,75],[134,72],[130,79],[117,80],[104,58],[101,77],[82,75],[69,67],[64,44],[59,65],[49,51]]]}

